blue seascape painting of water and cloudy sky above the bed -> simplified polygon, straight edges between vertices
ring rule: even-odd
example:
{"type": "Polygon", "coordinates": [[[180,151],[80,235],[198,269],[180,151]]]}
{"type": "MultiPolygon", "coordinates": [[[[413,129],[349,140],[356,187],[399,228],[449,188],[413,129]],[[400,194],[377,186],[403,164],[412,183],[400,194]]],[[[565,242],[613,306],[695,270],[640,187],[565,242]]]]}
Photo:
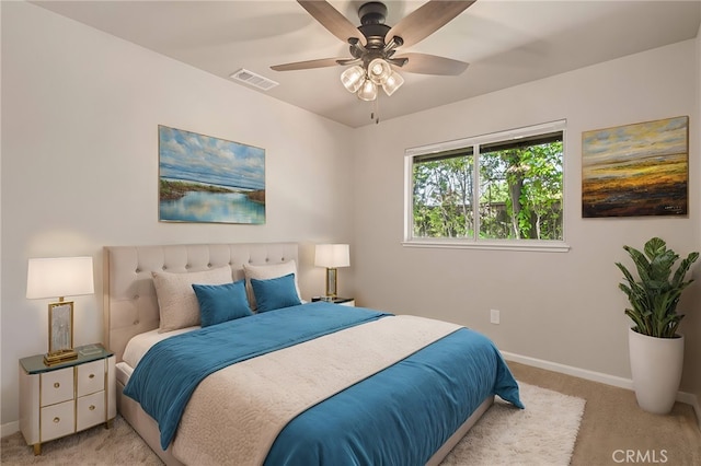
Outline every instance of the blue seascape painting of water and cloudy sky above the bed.
{"type": "Polygon", "coordinates": [[[265,150],[158,127],[159,220],[265,223],[265,150]]]}

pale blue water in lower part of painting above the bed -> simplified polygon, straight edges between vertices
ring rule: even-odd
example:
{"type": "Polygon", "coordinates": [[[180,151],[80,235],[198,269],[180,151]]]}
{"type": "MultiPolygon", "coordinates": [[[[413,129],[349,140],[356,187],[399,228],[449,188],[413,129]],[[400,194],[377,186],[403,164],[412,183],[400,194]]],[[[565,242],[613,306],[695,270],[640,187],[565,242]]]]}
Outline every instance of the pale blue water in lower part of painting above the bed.
{"type": "Polygon", "coordinates": [[[173,222],[265,223],[265,205],[242,193],[189,191],[160,202],[160,219],[173,222]]]}

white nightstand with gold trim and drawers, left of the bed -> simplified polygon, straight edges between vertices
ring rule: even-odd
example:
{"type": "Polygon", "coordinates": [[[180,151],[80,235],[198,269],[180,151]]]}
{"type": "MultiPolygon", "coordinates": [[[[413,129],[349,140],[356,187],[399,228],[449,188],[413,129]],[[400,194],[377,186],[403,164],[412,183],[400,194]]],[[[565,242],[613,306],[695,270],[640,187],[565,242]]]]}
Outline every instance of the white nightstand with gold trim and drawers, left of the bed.
{"type": "Polygon", "coordinates": [[[117,416],[115,358],[102,345],[76,348],[78,359],[44,364],[44,354],[20,360],[20,430],[34,454],[42,443],[117,416]]]}

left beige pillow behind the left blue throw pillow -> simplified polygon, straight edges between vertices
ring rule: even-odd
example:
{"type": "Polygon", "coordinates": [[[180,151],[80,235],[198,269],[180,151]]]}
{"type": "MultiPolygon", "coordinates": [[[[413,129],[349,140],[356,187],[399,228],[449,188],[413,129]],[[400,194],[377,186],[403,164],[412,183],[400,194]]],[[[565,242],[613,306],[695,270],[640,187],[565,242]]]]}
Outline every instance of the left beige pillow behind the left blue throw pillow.
{"type": "Polygon", "coordinates": [[[153,272],[153,286],[161,315],[159,333],[199,325],[199,304],[193,290],[194,283],[231,283],[231,267],[189,272],[153,272]]]}

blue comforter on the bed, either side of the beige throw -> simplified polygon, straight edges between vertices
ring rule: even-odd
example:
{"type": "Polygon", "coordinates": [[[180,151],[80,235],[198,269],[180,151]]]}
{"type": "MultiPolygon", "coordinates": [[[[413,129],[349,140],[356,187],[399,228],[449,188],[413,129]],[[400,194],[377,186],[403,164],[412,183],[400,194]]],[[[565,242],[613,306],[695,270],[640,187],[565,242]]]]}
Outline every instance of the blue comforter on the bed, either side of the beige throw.
{"type": "MultiPolygon", "coordinates": [[[[174,336],[145,354],[124,393],[157,420],[165,450],[205,376],[388,315],[312,303],[174,336]]],[[[522,408],[518,385],[498,350],[463,328],[295,418],[265,464],[423,465],[493,394],[522,408]]]]}

